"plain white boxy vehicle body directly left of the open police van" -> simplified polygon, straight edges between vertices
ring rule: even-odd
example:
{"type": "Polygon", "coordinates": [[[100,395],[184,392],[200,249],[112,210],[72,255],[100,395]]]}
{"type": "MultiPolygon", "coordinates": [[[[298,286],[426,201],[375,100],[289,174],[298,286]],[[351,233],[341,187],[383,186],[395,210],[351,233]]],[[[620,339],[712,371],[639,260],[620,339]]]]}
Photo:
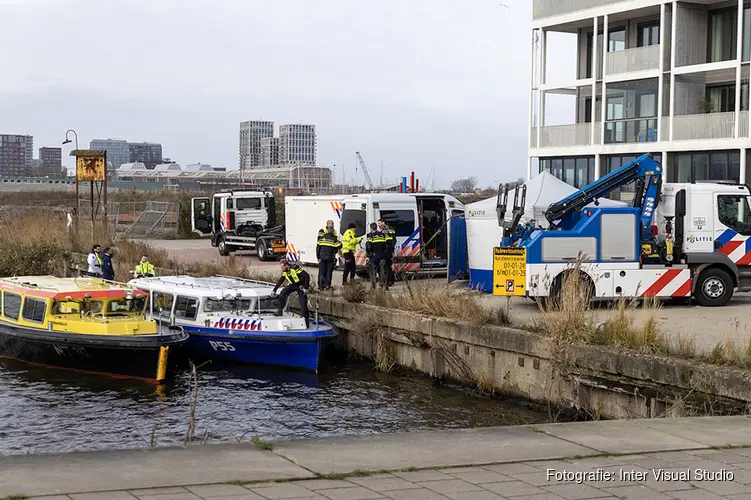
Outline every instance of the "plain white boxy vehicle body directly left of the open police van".
{"type": "MultiPolygon", "coordinates": [[[[287,196],[284,199],[284,226],[287,239],[286,258],[290,262],[318,264],[316,245],[318,230],[333,220],[339,230],[344,195],[287,196]]],[[[341,233],[339,238],[341,238],[341,233]]]]}

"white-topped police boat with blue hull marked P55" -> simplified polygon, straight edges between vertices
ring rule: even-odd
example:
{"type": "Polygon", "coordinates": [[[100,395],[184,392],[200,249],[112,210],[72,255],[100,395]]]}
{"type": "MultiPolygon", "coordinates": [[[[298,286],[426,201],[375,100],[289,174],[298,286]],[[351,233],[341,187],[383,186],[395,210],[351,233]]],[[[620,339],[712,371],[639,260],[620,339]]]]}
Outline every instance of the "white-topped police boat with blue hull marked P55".
{"type": "MultiPolygon", "coordinates": [[[[136,278],[129,284],[149,292],[147,311],[182,327],[192,360],[258,363],[318,372],[325,347],[336,337],[318,318],[287,311],[277,316],[279,297],[270,283],[212,276],[136,278]]],[[[294,300],[294,299],[292,299],[294,300]]]]}

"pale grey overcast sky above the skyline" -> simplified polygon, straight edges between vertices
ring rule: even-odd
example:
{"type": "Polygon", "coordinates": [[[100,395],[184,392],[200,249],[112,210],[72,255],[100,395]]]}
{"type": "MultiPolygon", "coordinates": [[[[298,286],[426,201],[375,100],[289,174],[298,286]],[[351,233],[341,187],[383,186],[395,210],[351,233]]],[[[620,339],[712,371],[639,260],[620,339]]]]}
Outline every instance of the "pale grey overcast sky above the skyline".
{"type": "Polygon", "coordinates": [[[532,2],[503,3],[0,0],[0,132],[33,135],[35,157],[73,128],[81,147],[153,141],[181,164],[237,165],[240,121],[313,123],[337,179],[360,151],[375,182],[381,161],[423,183],[435,165],[436,187],[514,180],[532,2]]]}

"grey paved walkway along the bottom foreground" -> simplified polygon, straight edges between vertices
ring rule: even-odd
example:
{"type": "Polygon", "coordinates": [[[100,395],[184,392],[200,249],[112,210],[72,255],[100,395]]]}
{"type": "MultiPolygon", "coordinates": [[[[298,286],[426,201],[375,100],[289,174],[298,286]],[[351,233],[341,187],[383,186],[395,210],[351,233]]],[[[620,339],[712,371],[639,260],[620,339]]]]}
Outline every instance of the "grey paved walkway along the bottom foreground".
{"type": "Polygon", "coordinates": [[[26,455],[0,458],[0,498],[741,500],[746,447],[736,416],[26,455]]]}

